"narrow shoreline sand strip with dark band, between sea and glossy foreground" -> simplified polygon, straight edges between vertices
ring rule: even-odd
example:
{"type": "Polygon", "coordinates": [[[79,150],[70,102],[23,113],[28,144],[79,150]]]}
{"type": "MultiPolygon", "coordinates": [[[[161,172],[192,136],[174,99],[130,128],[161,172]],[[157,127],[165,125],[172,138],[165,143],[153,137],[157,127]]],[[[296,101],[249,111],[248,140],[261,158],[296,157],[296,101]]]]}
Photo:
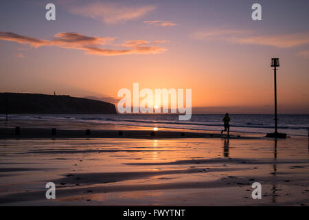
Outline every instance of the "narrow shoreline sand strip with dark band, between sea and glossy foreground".
{"type": "MultiPolygon", "coordinates": [[[[159,125],[158,125],[159,126],[159,125]]],[[[262,133],[231,132],[231,137],[264,137],[262,133]]],[[[225,133],[226,135],[226,133],[225,133]]],[[[124,124],[109,124],[98,122],[84,122],[76,120],[0,120],[0,139],[21,138],[201,138],[221,137],[219,131],[203,131],[195,129],[168,129],[152,126],[130,126],[124,124]],[[20,133],[16,135],[15,128],[20,133]],[[52,135],[52,129],[56,135],[52,135]],[[86,131],[90,130],[90,134],[86,131]],[[119,135],[119,131],[122,132],[119,135]]]]}

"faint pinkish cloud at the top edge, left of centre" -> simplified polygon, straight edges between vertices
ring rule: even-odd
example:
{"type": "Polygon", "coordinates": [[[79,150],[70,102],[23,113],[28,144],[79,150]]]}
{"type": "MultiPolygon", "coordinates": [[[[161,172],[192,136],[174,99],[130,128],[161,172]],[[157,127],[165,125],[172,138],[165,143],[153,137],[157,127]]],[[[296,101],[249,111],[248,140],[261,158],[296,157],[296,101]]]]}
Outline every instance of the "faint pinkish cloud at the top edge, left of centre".
{"type": "Polygon", "coordinates": [[[107,24],[115,24],[137,19],[155,9],[154,5],[128,7],[119,3],[98,1],[87,5],[75,5],[69,8],[69,12],[103,21],[107,24]]]}

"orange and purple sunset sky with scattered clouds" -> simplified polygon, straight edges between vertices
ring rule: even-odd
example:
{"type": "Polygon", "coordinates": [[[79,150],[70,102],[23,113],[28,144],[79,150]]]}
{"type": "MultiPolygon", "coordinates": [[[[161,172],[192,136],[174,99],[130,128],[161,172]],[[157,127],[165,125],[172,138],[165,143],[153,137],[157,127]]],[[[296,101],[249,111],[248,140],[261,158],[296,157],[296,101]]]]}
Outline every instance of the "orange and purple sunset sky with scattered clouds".
{"type": "Polygon", "coordinates": [[[193,113],[309,113],[309,1],[6,1],[0,92],[117,104],[117,91],[192,89],[193,113]],[[56,20],[45,5],[56,5],[56,20]],[[253,21],[251,6],[262,5],[253,21]]]}

